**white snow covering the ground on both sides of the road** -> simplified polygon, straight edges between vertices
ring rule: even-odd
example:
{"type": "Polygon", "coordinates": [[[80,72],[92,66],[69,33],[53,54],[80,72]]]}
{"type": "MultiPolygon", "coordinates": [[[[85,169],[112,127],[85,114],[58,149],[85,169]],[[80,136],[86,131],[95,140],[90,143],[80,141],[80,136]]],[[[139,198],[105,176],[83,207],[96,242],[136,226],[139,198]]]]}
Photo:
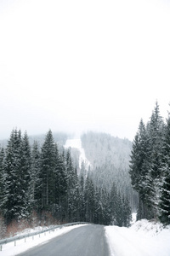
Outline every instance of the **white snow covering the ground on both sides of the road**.
{"type": "MultiPolygon", "coordinates": [[[[3,245],[0,256],[12,256],[25,252],[31,247],[48,242],[55,236],[64,235],[73,229],[82,226],[77,224],[63,227],[55,231],[47,231],[46,234],[32,236],[20,241],[14,241],[3,245]]],[[[37,228],[36,230],[39,230],[37,228]]],[[[36,230],[25,230],[35,232],[36,230]]],[[[19,235],[24,234],[23,232],[19,235]]],[[[162,224],[149,222],[146,219],[134,223],[130,228],[117,226],[106,226],[105,236],[107,238],[111,256],[170,256],[170,226],[163,229],[162,224]]]]}

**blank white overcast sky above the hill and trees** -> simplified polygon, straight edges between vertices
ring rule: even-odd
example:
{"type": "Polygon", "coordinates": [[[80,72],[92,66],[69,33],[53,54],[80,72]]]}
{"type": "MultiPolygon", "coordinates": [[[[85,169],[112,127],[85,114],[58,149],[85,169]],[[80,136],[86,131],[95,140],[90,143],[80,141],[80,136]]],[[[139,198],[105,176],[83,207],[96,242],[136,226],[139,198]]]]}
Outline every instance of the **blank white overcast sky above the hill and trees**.
{"type": "Polygon", "coordinates": [[[105,131],[133,140],[170,102],[166,0],[0,0],[0,139],[105,131]]]}

